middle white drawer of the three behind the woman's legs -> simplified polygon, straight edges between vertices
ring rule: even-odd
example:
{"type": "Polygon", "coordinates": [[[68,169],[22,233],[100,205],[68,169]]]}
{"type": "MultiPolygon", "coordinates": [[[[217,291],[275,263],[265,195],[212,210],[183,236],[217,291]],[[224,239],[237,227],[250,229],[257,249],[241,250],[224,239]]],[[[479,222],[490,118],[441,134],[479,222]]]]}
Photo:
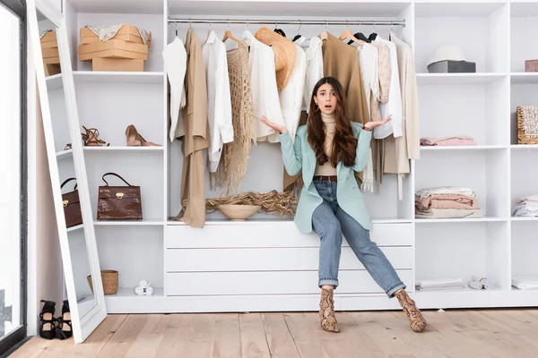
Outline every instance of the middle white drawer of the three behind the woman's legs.
{"type": "MultiPolygon", "coordinates": [[[[381,247],[397,268],[413,267],[411,246],[381,247]]],[[[167,272],[317,270],[318,248],[167,249],[167,272]]],[[[350,247],[343,247],[341,269],[365,269],[350,247]]]]}

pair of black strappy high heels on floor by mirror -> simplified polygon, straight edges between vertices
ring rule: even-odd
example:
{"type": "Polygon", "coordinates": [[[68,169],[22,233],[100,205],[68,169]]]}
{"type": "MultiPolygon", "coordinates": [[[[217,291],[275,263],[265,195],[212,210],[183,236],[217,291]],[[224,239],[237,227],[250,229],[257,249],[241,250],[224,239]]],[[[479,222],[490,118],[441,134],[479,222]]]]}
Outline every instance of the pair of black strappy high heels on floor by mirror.
{"type": "Polygon", "coordinates": [[[52,301],[41,300],[43,308],[39,313],[41,323],[39,325],[39,337],[45,339],[64,340],[73,336],[73,327],[71,326],[71,311],[69,311],[69,302],[64,301],[62,315],[55,318],[56,303],[52,301]]]}

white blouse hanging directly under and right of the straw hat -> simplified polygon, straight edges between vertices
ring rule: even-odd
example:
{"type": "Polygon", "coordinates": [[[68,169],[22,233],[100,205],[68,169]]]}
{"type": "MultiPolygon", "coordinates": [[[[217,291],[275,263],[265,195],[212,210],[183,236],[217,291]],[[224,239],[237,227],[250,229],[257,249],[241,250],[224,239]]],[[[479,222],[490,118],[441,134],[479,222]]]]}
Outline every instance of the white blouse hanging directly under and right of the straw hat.
{"type": "Polygon", "coordinates": [[[290,79],[280,92],[280,103],[282,116],[288,132],[290,132],[291,141],[295,141],[295,132],[299,127],[300,110],[302,107],[303,93],[305,90],[305,74],[307,72],[307,55],[299,46],[293,64],[293,71],[290,79]]]}

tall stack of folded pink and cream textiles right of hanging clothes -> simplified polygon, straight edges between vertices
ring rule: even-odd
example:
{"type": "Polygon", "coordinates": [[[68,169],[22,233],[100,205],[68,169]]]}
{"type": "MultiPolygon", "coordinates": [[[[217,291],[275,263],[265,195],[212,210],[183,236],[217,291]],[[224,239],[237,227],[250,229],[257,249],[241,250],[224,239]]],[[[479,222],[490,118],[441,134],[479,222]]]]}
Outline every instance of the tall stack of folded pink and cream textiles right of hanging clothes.
{"type": "Polygon", "coordinates": [[[438,186],[415,192],[415,217],[482,217],[471,188],[438,186]]]}

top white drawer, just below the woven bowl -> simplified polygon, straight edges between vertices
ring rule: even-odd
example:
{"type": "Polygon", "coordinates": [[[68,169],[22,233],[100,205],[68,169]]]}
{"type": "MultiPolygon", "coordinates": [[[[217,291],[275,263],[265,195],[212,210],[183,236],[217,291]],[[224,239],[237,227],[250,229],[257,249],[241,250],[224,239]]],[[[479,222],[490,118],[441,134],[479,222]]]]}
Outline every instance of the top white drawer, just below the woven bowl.
{"type": "MultiPolygon", "coordinates": [[[[412,224],[374,224],[370,233],[379,246],[408,246],[414,242],[412,224]]],[[[167,248],[319,247],[316,233],[300,234],[292,221],[251,221],[207,224],[204,228],[166,226],[167,248]]],[[[344,240],[344,246],[349,246],[344,240]]]]}

